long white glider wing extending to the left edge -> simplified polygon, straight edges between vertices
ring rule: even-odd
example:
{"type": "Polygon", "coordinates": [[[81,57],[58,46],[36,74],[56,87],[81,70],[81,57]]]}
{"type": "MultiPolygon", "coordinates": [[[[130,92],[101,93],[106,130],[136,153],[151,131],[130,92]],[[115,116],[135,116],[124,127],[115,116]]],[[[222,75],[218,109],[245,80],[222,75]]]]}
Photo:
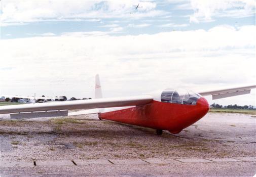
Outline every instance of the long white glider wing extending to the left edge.
{"type": "Polygon", "coordinates": [[[153,97],[150,95],[120,98],[102,98],[92,100],[76,100],[51,103],[35,103],[29,105],[1,106],[0,114],[53,111],[53,110],[74,110],[74,109],[94,109],[122,106],[138,106],[151,102],[153,97]]]}

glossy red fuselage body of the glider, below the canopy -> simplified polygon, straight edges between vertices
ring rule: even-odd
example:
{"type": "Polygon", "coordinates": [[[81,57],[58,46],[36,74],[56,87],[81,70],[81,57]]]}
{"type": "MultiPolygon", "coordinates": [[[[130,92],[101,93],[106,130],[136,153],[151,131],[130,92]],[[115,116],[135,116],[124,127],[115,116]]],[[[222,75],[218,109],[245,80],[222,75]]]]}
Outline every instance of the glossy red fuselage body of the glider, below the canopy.
{"type": "Polygon", "coordinates": [[[152,101],[147,105],[100,113],[99,117],[138,126],[169,130],[176,134],[202,118],[208,110],[209,104],[205,98],[199,98],[196,105],[152,101]]]}

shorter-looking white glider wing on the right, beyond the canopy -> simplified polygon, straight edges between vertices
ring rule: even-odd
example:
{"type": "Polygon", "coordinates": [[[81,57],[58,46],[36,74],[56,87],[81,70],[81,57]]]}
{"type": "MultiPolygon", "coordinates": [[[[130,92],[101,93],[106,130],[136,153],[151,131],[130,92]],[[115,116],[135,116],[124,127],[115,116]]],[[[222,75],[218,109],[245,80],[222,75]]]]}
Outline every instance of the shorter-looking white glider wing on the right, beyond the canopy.
{"type": "Polygon", "coordinates": [[[255,87],[256,85],[249,85],[249,86],[233,87],[233,88],[222,89],[222,90],[199,92],[199,94],[202,96],[212,95],[212,100],[215,100],[215,99],[221,99],[226,97],[233,97],[237,95],[249,94],[250,90],[255,89],[255,87]]]}

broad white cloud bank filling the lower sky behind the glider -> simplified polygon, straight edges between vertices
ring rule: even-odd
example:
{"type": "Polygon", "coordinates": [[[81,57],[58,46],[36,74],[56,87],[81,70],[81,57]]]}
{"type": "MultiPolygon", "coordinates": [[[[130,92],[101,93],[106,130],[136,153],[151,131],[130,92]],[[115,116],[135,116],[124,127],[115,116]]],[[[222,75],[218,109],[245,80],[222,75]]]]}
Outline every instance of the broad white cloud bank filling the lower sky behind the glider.
{"type": "MultiPolygon", "coordinates": [[[[77,32],[1,40],[1,66],[12,67],[0,69],[1,90],[9,95],[92,97],[96,73],[105,97],[254,83],[255,28],[120,36],[77,32]]],[[[243,98],[235,103],[255,103],[251,95],[243,98]]]]}

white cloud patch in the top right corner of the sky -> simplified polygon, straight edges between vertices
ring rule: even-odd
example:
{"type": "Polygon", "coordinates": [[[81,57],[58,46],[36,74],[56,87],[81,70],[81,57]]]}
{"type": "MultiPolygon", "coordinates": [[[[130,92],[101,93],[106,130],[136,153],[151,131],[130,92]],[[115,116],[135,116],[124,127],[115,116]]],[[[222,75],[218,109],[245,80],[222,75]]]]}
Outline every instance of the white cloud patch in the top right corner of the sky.
{"type": "MultiPolygon", "coordinates": [[[[187,4],[184,7],[188,8],[187,4]]],[[[255,14],[255,1],[192,0],[191,9],[194,10],[194,14],[190,16],[191,23],[210,22],[214,17],[243,18],[255,14]]]]}

